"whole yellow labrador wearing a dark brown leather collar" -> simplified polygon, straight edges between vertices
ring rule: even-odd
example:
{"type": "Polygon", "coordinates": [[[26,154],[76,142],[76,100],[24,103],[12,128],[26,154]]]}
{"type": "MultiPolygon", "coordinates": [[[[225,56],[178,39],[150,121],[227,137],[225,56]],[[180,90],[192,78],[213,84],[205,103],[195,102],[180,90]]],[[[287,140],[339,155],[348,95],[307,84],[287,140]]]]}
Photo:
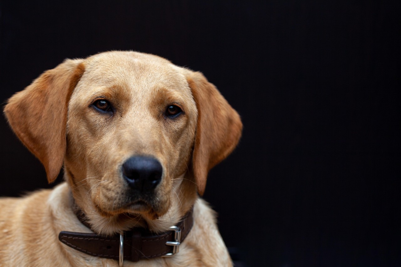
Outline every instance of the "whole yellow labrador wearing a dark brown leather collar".
{"type": "Polygon", "coordinates": [[[136,52],[67,59],[4,113],[65,182],[0,200],[0,265],[232,265],[198,195],[242,123],[201,73],[136,52]]]}

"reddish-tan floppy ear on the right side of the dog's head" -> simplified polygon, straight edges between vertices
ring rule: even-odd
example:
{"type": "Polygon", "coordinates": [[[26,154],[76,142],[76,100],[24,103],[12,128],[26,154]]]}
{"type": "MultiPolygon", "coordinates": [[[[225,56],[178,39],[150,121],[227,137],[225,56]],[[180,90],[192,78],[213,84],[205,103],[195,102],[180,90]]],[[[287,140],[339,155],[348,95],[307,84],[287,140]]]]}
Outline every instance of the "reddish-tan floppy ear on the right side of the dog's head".
{"type": "Polygon", "coordinates": [[[192,168],[198,194],[202,196],[209,170],[237,146],[242,123],[238,113],[202,73],[190,71],[187,81],[198,109],[192,168]]]}

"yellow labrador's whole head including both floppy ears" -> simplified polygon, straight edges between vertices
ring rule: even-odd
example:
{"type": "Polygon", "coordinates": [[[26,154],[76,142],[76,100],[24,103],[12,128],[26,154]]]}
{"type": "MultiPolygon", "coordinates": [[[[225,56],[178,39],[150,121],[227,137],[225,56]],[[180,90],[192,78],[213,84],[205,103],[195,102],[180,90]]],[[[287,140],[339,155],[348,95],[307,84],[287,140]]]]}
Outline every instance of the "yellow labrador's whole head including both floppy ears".
{"type": "Polygon", "coordinates": [[[11,97],[4,112],[49,182],[64,163],[78,206],[115,226],[100,223],[106,233],[130,227],[133,214],[148,222],[163,216],[180,200],[188,210],[242,129],[201,73],[136,52],[66,60],[11,97]]]}

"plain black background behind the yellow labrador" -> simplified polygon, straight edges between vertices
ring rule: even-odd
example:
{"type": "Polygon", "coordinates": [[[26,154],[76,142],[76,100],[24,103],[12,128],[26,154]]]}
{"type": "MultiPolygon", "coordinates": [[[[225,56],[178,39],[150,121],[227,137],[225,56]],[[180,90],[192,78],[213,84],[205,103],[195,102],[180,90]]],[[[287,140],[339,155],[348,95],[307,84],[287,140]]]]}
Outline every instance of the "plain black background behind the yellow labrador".
{"type": "MultiPolygon", "coordinates": [[[[244,123],[204,196],[235,259],[401,266],[398,3],[2,0],[0,99],[108,50],[202,71],[244,123]]],[[[50,187],[0,123],[0,195],[50,187]]]]}

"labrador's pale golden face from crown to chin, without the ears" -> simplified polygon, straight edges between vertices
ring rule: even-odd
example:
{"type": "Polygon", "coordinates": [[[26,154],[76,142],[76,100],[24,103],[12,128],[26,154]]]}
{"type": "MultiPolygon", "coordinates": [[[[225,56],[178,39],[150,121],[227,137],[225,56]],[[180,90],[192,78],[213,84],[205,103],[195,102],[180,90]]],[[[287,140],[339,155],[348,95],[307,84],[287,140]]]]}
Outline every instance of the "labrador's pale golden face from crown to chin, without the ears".
{"type": "Polygon", "coordinates": [[[106,216],[165,214],[188,170],[198,116],[183,69],[138,53],[97,55],[85,69],[67,119],[75,194],[106,216]]]}

